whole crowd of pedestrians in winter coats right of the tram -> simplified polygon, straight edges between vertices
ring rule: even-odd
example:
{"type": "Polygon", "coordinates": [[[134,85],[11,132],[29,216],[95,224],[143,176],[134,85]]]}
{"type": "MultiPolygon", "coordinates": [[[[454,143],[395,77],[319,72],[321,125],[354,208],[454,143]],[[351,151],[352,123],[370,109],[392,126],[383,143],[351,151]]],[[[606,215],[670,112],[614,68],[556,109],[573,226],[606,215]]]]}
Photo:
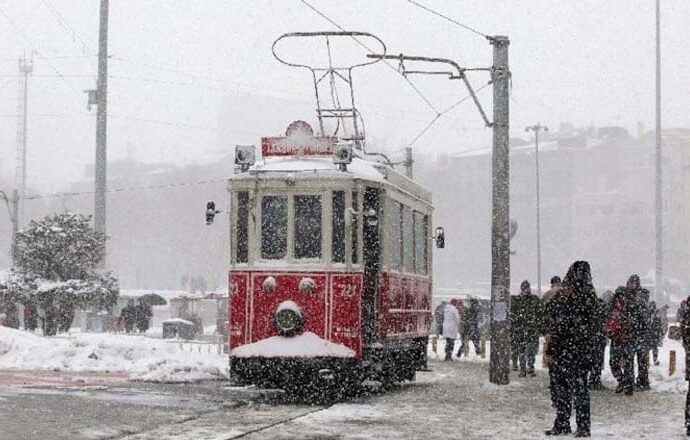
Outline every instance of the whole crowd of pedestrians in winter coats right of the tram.
{"type": "MultiPolygon", "coordinates": [[[[472,340],[479,353],[477,307],[472,308],[472,301],[469,307],[461,304],[452,300],[434,313],[436,334],[446,340],[446,361],[453,359],[458,333],[463,344],[472,340]]],[[[668,306],[657,307],[650,300],[649,291],[636,274],[624,286],[597,296],[586,261],[573,263],[562,280],[552,277],[551,287],[542,298],[532,293],[529,281],[521,283],[519,294],[511,296],[510,303],[511,362],[520,377],[536,376],[539,339],[544,337],[544,362],[556,408],[554,425],[546,435],[571,433],[574,406],[575,437],[590,436],[589,390],[604,389],[601,375],[609,343],[609,368],[617,380],[615,392],[630,396],[650,389],[650,363],[659,365],[658,350],[669,328],[667,312],[668,306]]],[[[677,317],[685,345],[690,348],[690,298],[683,302],[677,317]]],[[[462,354],[460,347],[457,356],[462,354]]],[[[690,380],[690,372],[686,375],[690,380]]],[[[686,428],[690,436],[690,391],[686,428]]]]}

